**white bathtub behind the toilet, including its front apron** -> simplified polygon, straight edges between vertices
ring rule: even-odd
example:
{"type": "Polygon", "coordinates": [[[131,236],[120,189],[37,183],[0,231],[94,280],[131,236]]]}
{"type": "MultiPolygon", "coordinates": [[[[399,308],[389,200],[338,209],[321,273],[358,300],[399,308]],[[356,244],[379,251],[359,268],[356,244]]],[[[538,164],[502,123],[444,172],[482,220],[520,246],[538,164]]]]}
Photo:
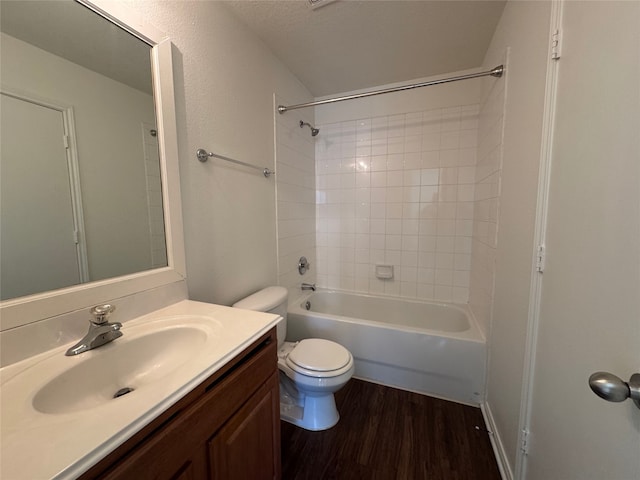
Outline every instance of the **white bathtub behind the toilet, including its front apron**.
{"type": "Polygon", "coordinates": [[[344,345],[356,378],[468,405],[483,400],[486,344],[466,305],[318,290],[291,302],[287,317],[287,340],[344,345]]]}

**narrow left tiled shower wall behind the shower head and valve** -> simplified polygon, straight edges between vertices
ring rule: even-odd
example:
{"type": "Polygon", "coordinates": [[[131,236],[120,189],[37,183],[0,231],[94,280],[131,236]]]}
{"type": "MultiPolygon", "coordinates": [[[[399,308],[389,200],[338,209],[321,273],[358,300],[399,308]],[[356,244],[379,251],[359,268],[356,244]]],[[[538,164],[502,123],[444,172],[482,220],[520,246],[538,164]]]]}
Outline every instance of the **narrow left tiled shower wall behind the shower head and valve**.
{"type": "MultiPolygon", "coordinates": [[[[276,105],[288,105],[276,97],[276,105]]],[[[315,161],[314,140],[300,120],[313,123],[309,110],[276,113],[276,201],[278,218],[278,285],[287,287],[289,299],[297,298],[302,282],[316,281],[315,161]],[[297,114],[296,114],[297,113],[297,114]],[[298,273],[298,260],[305,256],[311,269],[298,273]]]]}

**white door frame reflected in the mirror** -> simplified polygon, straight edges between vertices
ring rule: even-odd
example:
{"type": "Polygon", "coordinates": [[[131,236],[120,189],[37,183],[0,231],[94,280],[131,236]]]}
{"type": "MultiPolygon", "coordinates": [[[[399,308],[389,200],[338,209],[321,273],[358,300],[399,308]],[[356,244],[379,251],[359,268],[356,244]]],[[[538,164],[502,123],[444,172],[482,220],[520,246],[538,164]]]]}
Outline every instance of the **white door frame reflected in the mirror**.
{"type": "Polygon", "coordinates": [[[82,208],[82,189],[80,186],[80,167],[78,163],[78,146],[76,142],[75,116],[73,106],[58,101],[43,98],[39,95],[0,86],[0,95],[6,95],[23,102],[29,102],[44,108],[60,112],[66,138],[65,152],[67,156],[67,170],[69,172],[69,188],[71,191],[71,210],[73,227],[75,230],[76,255],[78,258],[78,274],[80,283],[87,283],[89,278],[89,261],[87,257],[87,242],[84,228],[84,211],[82,208]]]}

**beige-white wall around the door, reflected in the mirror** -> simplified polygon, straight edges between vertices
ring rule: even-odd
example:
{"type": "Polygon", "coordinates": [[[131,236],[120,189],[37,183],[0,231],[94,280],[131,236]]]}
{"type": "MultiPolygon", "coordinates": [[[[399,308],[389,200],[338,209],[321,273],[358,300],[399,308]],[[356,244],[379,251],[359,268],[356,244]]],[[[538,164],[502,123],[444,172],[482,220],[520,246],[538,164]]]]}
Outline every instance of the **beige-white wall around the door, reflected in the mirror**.
{"type": "Polygon", "coordinates": [[[155,125],[153,98],[4,33],[1,45],[3,87],[74,109],[90,279],[148,270],[141,124],[155,125]]]}

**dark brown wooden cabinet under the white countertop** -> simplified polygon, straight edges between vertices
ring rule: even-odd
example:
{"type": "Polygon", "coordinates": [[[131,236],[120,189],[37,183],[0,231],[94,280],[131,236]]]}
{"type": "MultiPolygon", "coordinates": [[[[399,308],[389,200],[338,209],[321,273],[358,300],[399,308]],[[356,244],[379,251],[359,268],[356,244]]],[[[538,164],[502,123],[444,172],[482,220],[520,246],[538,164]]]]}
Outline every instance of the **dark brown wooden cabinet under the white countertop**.
{"type": "Polygon", "coordinates": [[[279,479],[273,329],[81,479],[279,479]]]}

